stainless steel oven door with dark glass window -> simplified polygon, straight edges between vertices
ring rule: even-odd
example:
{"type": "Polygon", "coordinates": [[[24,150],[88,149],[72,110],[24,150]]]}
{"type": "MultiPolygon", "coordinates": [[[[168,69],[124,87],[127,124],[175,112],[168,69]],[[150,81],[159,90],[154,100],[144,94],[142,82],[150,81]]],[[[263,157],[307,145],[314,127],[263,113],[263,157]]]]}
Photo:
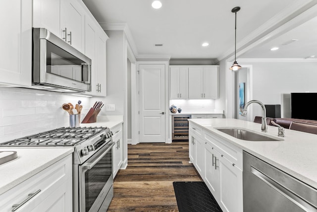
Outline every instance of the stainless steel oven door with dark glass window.
{"type": "Polygon", "coordinates": [[[80,212],[98,212],[104,204],[109,204],[113,197],[113,145],[113,142],[108,142],[79,166],[80,212]],[[109,191],[112,194],[108,194],[109,191]]]}

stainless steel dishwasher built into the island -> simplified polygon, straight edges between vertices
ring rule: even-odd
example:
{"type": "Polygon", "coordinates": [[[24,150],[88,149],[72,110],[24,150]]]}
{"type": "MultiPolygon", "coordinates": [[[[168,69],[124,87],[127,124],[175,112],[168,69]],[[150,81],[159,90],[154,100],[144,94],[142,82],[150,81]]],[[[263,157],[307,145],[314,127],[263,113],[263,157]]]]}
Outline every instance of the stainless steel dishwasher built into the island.
{"type": "Polygon", "coordinates": [[[244,212],[317,212],[317,190],[243,151],[244,212]]]}

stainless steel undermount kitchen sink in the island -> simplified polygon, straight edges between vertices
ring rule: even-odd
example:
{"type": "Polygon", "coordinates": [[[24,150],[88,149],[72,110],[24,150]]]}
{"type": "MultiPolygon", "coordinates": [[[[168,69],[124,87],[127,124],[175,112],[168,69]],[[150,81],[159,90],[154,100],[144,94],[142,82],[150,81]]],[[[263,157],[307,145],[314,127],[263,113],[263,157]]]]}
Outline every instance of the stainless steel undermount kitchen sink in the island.
{"type": "Polygon", "coordinates": [[[215,128],[216,130],[244,141],[283,141],[269,136],[257,134],[241,128],[215,128]]]}

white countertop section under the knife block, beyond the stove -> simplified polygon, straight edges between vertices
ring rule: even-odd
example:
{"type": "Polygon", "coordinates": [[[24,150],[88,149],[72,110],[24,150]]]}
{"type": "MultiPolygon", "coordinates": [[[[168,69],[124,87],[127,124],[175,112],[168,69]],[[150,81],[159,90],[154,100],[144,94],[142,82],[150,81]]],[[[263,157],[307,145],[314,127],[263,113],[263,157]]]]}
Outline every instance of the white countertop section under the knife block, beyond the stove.
{"type": "Polygon", "coordinates": [[[80,124],[80,127],[107,127],[109,129],[123,123],[123,116],[97,116],[97,122],[80,124]]]}

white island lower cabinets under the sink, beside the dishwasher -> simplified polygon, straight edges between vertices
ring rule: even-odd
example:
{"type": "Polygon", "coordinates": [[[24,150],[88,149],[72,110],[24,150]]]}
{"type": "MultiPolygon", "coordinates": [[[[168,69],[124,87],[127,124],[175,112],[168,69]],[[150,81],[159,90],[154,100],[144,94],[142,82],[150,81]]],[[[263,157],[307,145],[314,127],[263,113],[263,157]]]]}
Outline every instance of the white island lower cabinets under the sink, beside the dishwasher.
{"type": "Polygon", "coordinates": [[[223,212],[243,212],[242,149],[192,123],[189,128],[189,138],[194,138],[189,156],[211,194],[223,212]]]}

